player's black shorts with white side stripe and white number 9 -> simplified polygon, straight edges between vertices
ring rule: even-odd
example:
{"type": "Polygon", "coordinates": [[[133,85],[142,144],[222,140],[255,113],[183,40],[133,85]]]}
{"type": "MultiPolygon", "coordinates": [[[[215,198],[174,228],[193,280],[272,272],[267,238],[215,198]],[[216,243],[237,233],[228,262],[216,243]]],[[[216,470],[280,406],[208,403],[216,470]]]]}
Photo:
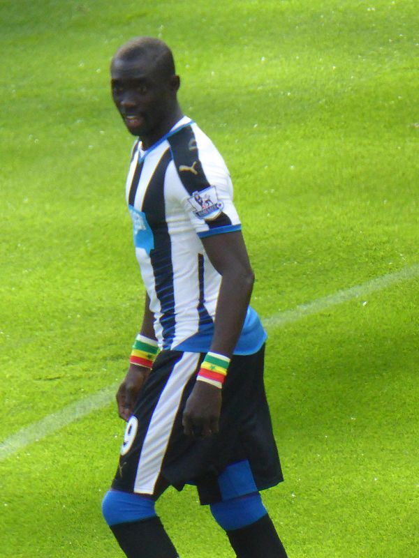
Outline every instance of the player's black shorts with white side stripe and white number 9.
{"type": "MultiPolygon", "coordinates": [[[[253,483],[242,493],[283,480],[263,384],[264,349],[233,356],[223,385],[219,433],[184,435],[182,414],[204,354],[162,351],[128,421],[112,488],[157,499],[168,485],[195,484],[201,504],[220,502],[219,476],[233,464],[253,483]],[[251,488],[253,486],[253,488],[251,488]]],[[[235,468],[233,468],[235,470],[235,468]]]]}

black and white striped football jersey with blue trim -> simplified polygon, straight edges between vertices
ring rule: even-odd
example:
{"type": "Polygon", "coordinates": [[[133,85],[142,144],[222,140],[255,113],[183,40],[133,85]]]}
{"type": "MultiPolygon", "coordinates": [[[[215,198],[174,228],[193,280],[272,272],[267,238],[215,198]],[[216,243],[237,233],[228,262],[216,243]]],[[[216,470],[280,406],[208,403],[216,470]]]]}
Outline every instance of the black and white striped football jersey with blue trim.
{"type": "MultiPolygon", "coordinates": [[[[200,239],[241,228],[223,158],[184,116],[147,151],[135,142],[126,199],[159,346],[207,352],[221,276],[200,239]]],[[[235,354],[256,352],[265,338],[249,308],[235,354]]]]}

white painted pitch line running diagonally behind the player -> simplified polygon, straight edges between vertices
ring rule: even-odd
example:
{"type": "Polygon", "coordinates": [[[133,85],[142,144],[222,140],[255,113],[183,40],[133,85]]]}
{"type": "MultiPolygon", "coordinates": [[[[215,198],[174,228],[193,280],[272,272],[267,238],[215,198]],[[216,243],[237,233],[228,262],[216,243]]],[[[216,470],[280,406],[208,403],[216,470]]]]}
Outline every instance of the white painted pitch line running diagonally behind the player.
{"type": "MultiPolygon", "coordinates": [[[[418,276],[419,264],[414,264],[413,266],[406,267],[401,271],[388,273],[388,275],[367,281],[362,285],[355,285],[355,287],[342,289],[334,294],[330,294],[329,296],[323,296],[323,298],[317,299],[313,302],[301,304],[292,310],[278,312],[277,314],[264,319],[263,325],[267,329],[273,329],[275,327],[291,324],[296,322],[298,319],[316,314],[316,312],[321,312],[331,306],[336,306],[337,304],[357,299],[361,296],[362,298],[365,298],[365,296],[373,292],[380,291],[381,289],[391,287],[399,282],[413,279],[418,276]]],[[[29,446],[29,444],[32,444],[33,442],[38,442],[53,432],[57,432],[57,430],[73,423],[78,420],[78,418],[83,418],[95,409],[105,407],[105,405],[108,405],[115,398],[118,383],[119,382],[112,384],[87,398],[75,401],[70,405],[63,407],[63,409],[41,418],[41,421],[25,426],[22,430],[18,430],[15,434],[10,435],[0,443],[0,461],[10,457],[10,455],[13,455],[21,448],[29,446]]]]}

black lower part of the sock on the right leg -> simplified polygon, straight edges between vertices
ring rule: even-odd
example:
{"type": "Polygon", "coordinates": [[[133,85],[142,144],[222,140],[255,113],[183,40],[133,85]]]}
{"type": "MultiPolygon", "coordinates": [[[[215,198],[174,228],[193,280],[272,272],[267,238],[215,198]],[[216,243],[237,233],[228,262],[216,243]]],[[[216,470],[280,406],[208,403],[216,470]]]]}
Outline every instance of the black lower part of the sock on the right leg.
{"type": "Polygon", "coordinates": [[[287,558],[269,515],[242,529],[226,531],[237,558],[287,558]]]}

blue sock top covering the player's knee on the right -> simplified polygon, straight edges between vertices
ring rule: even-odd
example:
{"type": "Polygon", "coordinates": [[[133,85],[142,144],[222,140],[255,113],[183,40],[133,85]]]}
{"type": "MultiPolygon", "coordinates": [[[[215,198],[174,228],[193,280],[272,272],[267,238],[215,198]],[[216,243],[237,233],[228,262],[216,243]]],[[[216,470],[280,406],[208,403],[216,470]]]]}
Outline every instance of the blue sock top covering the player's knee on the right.
{"type": "Polygon", "coordinates": [[[225,531],[247,527],[267,514],[258,492],[211,504],[210,509],[216,522],[225,531]]]}

